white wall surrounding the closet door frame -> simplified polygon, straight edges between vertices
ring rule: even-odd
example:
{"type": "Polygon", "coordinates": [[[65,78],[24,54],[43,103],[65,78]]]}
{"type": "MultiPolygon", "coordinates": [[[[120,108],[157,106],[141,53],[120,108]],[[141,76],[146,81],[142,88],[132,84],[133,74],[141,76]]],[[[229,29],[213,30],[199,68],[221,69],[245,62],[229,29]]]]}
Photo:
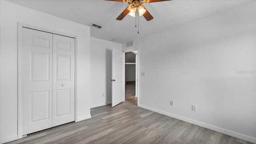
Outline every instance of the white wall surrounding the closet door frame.
{"type": "Polygon", "coordinates": [[[17,139],[17,23],[78,36],[78,120],[90,118],[90,27],[0,0],[0,142],[17,139]]]}

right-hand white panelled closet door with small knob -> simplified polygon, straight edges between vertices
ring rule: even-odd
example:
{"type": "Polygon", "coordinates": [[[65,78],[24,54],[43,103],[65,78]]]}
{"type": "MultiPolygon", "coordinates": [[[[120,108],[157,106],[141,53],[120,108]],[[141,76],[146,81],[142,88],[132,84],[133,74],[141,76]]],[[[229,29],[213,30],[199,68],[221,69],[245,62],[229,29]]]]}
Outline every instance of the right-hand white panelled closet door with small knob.
{"type": "Polygon", "coordinates": [[[75,39],[53,34],[52,126],[75,120],[75,39]]]}

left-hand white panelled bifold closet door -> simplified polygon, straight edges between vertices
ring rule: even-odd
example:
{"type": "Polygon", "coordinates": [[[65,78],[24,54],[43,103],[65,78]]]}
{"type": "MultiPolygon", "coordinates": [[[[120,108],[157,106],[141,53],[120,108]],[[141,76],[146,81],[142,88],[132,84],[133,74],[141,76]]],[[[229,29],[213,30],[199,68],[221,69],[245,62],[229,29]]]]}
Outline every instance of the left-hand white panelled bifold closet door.
{"type": "Polygon", "coordinates": [[[52,34],[23,28],[23,135],[52,127],[52,34]]]}

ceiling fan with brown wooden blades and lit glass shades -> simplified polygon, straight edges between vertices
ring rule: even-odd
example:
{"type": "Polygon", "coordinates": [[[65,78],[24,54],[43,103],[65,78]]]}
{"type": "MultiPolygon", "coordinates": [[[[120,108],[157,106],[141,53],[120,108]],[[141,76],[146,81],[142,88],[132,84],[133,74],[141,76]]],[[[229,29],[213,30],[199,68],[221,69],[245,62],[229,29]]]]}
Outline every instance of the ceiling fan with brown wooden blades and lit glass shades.
{"type": "Polygon", "coordinates": [[[127,14],[135,17],[136,10],[138,9],[139,15],[144,16],[147,21],[153,19],[153,16],[148,12],[143,3],[162,2],[168,0],[108,0],[115,2],[128,2],[130,4],[117,18],[116,20],[122,20],[127,14]]]}

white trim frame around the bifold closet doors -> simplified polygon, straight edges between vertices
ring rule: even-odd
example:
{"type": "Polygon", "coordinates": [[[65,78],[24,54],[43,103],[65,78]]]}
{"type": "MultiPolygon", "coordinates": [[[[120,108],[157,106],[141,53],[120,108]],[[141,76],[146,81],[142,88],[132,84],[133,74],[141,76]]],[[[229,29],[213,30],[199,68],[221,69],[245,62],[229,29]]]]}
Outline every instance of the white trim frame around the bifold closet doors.
{"type": "Polygon", "coordinates": [[[77,39],[78,36],[57,32],[54,30],[48,30],[36,26],[30,26],[28,24],[18,23],[18,139],[22,138],[22,120],[23,120],[23,101],[22,101],[22,28],[30,28],[52,34],[58,34],[62,36],[72,37],[75,39],[75,122],[78,121],[78,105],[77,105],[77,39]]]}

